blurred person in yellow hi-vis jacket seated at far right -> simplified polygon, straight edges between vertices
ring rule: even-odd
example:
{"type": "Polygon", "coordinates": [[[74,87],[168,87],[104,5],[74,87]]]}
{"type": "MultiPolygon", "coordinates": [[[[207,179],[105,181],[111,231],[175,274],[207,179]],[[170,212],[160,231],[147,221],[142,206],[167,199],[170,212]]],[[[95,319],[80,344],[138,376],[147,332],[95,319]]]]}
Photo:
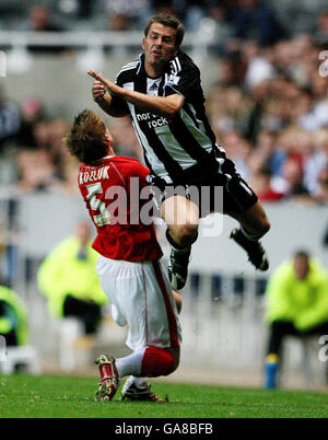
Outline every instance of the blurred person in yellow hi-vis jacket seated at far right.
{"type": "Polygon", "coordinates": [[[265,386],[274,389],[285,336],[328,334],[328,274],[307,252],[297,251],[272,274],[266,297],[269,341],[265,386]]]}

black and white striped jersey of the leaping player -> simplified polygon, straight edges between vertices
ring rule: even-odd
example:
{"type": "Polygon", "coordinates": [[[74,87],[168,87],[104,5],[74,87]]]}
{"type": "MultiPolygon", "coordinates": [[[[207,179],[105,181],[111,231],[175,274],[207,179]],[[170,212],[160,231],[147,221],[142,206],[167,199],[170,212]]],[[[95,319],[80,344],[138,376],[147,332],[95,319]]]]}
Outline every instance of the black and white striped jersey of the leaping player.
{"type": "Polygon", "coordinates": [[[156,79],[147,76],[144,55],[140,55],[139,60],[122,67],[116,83],[141,93],[157,96],[179,93],[185,97],[184,106],[172,119],[127,103],[145,163],[153,174],[167,183],[181,182],[187,169],[200,165],[207,170],[216,161],[214,150],[216,158],[225,158],[206,116],[200,71],[188,55],[179,51],[156,79]]]}

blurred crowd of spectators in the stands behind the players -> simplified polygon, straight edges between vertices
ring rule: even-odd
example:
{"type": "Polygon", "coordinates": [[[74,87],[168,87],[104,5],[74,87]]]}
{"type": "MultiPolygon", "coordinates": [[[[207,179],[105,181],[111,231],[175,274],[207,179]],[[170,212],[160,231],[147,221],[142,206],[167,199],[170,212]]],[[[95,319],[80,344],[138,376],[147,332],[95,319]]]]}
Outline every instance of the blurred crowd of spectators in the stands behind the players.
{"type": "MultiPolygon", "coordinates": [[[[1,13],[2,28],[16,23],[10,20],[14,3],[1,2],[8,14],[4,26],[1,13]]],[[[160,11],[177,15],[187,32],[211,30],[216,81],[206,90],[218,142],[262,201],[328,202],[328,1],[21,3],[21,30],[63,31],[83,23],[93,30],[137,30],[160,11]]],[[[51,117],[40,101],[17,104],[0,91],[0,184],[13,184],[20,193],[74,194],[78,164],[62,148],[68,124],[51,117]]],[[[117,153],[142,160],[129,118],[110,119],[110,128],[117,153]]]]}

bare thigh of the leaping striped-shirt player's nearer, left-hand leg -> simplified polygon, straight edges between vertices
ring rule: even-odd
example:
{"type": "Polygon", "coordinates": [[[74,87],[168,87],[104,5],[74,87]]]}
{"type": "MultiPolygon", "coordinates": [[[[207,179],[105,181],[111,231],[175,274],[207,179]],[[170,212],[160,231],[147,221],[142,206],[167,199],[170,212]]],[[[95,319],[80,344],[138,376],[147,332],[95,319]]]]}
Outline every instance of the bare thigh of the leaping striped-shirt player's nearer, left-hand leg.
{"type": "Polygon", "coordinates": [[[198,227],[199,208],[184,196],[175,195],[162,204],[161,215],[168,225],[191,224],[198,227]]]}

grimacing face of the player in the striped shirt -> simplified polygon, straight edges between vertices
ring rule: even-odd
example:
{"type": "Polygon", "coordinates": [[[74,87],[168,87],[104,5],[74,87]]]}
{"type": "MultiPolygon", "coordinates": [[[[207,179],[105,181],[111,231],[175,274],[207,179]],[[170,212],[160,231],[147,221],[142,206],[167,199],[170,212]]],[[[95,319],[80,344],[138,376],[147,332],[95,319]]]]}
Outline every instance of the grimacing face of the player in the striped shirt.
{"type": "Polygon", "coordinates": [[[145,65],[161,72],[167,61],[176,56],[175,30],[161,23],[153,23],[147,36],[142,39],[145,65]]]}

